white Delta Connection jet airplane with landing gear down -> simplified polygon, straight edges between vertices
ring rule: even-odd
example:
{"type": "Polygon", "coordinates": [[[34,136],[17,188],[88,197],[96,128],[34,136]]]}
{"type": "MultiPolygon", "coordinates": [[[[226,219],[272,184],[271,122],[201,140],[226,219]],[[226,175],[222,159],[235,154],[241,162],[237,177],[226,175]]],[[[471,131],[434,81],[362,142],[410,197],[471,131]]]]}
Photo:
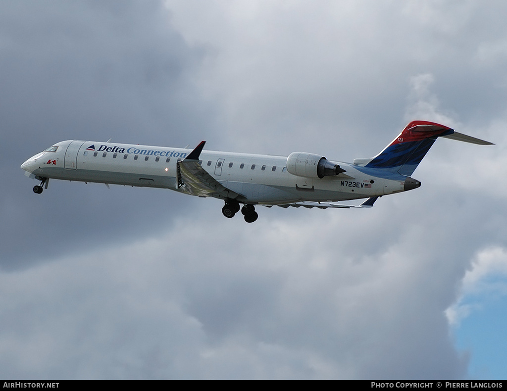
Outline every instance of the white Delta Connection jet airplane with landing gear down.
{"type": "Polygon", "coordinates": [[[281,207],[372,207],[387,194],[421,186],[411,177],[438,137],[493,145],[429,121],[412,121],[379,154],[344,163],[322,155],[293,152],[289,156],[205,151],[205,141],[193,150],[101,141],[66,140],[32,156],[21,168],[41,181],[50,179],[154,187],[198,197],[224,200],[222,213],[232,218],[240,210],[247,223],[258,219],[255,205],[281,207]],[[367,198],[360,205],[341,201],[367,198]]]}

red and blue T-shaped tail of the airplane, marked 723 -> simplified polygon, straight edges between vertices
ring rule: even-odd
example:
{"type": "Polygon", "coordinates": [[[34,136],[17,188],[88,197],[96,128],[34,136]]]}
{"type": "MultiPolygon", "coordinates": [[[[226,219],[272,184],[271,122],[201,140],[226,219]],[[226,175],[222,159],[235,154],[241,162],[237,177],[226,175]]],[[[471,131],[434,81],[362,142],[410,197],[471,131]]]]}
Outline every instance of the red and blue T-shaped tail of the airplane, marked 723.
{"type": "Polygon", "coordinates": [[[472,144],[493,145],[489,141],[455,132],[454,129],[434,122],[412,121],[377,156],[369,159],[354,159],[354,164],[410,176],[437,137],[452,138],[472,144]]]}

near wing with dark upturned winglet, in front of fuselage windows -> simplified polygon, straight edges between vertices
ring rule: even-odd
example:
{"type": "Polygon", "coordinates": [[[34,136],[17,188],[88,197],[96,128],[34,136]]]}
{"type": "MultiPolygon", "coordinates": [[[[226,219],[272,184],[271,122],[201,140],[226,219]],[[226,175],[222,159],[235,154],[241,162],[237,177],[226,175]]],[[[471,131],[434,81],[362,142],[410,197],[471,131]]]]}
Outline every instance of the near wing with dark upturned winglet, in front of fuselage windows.
{"type": "Polygon", "coordinates": [[[179,191],[199,197],[243,198],[241,194],[221,185],[199,164],[199,155],[205,143],[201,141],[190,155],[178,161],[176,186],[179,191]]]}

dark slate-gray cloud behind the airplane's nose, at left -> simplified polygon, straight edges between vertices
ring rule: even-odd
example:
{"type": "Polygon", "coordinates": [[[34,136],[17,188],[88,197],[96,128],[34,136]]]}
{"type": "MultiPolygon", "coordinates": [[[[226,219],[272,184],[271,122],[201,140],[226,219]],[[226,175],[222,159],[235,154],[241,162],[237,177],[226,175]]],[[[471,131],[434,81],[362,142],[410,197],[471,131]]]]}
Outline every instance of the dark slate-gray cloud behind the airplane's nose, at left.
{"type": "Polygon", "coordinates": [[[121,241],[167,226],[185,210],[185,201],[174,209],[162,191],[106,192],[82,184],[63,191],[55,182],[47,196],[36,198],[19,166],[69,138],[198,143],[213,128],[212,105],[203,103],[191,79],[203,51],[183,42],[171,27],[170,12],[158,2],[0,7],[6,147],[8,141],[0,159],[7,168],[4,182],[19,189],[3,197],[2,267],[24,267],[37,254],[51,258],[70,247],[121,241]]]}

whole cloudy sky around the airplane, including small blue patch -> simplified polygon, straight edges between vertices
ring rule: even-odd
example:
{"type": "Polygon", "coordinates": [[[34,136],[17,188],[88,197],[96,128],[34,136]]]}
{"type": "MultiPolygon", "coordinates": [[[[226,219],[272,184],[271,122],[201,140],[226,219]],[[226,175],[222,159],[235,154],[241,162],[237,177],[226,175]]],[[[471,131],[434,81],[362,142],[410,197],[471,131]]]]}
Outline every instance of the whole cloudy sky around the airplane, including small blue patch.
{"type": "Polygon", "coordinates": [[[507,4],[0,3],[0,378],[504,379],[507,4]],[[51,181],[65,139],[351,161],[413,119],[421,188],[258,208],[51,181]]]}

